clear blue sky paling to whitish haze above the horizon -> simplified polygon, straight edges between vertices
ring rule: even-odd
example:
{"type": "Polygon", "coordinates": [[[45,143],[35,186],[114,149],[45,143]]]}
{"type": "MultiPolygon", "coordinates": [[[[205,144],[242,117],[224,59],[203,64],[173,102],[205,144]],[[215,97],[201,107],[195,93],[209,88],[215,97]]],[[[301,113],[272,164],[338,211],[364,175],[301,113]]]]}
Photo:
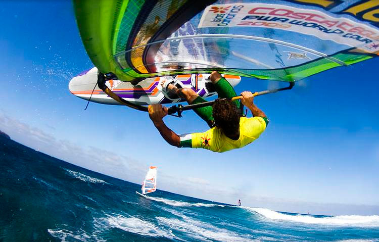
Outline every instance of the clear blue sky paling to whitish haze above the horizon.
{"type": "MultiPolygon", "coordinates": [[[[293,90],[261,96],[270,118],[244,149],[216,154],[170,147],[148,115],[89,104],[68,90],[92,67],[72,3],[2,3],[0,129],[73,164],[140,183],[158,166],[159,188],[212,201],[320,214],[379,213],[378,59],[335,68],[293,90]]],[[[282,83],[243,79],[263,90],[282,83]]],[[[203,131],[193,112],[166,117],[177,133],[203,131]]]]}

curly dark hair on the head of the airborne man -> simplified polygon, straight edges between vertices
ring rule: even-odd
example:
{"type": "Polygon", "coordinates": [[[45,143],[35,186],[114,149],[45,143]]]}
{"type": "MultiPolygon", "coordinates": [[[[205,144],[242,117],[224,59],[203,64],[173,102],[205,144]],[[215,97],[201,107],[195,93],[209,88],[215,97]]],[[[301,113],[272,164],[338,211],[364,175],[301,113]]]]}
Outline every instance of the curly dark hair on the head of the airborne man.
{"type": "Polygon", "coordinates": [[[241,112],[230,100],[216,99],[213,104],[212,116],[216,127],[225,134],[235,134],[240,128],[241,112]]]}

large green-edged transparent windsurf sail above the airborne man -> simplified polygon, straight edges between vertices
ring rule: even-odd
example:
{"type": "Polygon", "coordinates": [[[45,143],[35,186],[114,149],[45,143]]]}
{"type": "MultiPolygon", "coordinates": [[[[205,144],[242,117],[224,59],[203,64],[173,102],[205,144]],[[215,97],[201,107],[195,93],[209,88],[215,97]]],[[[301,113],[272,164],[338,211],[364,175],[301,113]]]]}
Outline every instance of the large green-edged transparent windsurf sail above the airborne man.
{"type": "Polygon", "coordinates": [[[93,64],[122,81],[209,73],[293,82],[379,54],[377,1],[74,0],[93,64]]]}

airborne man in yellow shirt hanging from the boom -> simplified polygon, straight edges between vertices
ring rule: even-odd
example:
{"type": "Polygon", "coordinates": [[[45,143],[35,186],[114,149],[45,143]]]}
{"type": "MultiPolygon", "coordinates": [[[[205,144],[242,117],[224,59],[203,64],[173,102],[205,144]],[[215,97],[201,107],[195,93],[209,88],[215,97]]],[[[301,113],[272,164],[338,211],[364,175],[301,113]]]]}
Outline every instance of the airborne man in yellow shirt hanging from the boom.
{"type": "MultiPolygon", "coordinates": [[[[219,98],[230,99],[236,96],[233,87],[220,73],[212,72],[210,79],[219,98]]],[[[185,99],[188,104],[206,102],[193,89],[178,88],[172,83],[166,83],[164,86],[167,91],[185,99]]],[[[268,124],[266,115],[253,103],[253,93],[244,91],[241,94],[242,105],[249,108],[254,117],[246,118],[242,116],[239,101],[218,99],[212,107],[208,106],[194,110],[211,127],[211,129],[202,133],[177,135],[163,122],[162,119],[167,115],[168,110],[160,104],[149,105],[149,116],[162,137],[172,146],[203,148],[213,152],[230,151],[242,148],[253,142],[266,129],[268,124]]]]}

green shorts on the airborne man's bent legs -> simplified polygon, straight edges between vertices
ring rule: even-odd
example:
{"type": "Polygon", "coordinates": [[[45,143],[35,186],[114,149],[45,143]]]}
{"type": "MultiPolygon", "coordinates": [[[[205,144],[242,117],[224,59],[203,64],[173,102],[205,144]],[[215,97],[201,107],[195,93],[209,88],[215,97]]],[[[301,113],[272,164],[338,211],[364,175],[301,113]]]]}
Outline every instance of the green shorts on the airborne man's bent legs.
{"type": "MultiPolygon", "coordinates": [[[[233,87],[230,85],[230,83],[225,79],[221,78],[216,84],[214,84],[216,92],[218,94],[218,98],[220,99],[231,99],[233,96],[236,96],[236,93],[233,89],[233,87]]],[[[191,104],[199,104],[199,103],[204,103],[207,102],[205,99],[203,99],[201,96],[198,96],[191,104]]],[[[242,104],[239,100],[233,101],[235,106],[237,108],[241,109],[242,104]]],[[[214,127],[214,120],[212,117],[212,106],[207,106],[203,108],[197,108],[194,109],[195,113],[200,116],[207,124],[209,127],[214,127]]]]}

